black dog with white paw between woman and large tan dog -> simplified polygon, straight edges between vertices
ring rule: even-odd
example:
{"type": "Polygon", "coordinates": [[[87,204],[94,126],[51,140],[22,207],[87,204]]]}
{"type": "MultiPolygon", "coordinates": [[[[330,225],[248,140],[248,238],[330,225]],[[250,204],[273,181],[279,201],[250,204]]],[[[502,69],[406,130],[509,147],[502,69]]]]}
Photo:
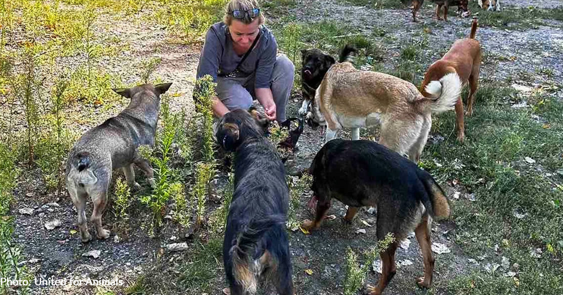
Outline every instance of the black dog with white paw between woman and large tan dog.
{"type": "Polygon", "coordinates": [[[313,48],[301,50],[301,92],[303,94],[303,104],[298,110],[298,114],[307,114],[311,101],[315,99],[316,88],[323,81],[324,75],[330,66],[336,61],[334,57],[324,54],[322,51],[313,48]]]}

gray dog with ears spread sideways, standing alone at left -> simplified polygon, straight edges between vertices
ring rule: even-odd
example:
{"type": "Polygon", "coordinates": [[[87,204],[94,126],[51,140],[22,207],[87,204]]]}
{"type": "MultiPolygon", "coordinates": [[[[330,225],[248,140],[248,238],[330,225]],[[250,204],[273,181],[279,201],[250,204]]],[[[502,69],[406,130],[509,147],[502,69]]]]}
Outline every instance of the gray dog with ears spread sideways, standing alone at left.
{"type": "Polygon", "coordinates": [[[94,209],[90,221],[96,226],[99,239],[109,238],[110,231],[102,228],[101,216],[108,201],[111,171],[123,168],[130,187],[138,189],[133,164],[141,168],[150,185],[154,184],[149,160],[137,153],[141,145],[154,145],[160,95],[172,83],[153,86],[145,84],[133,88],[114,89],[131,99],[116,117],[86,132],[70,150],[66,162],[66,187],[78,212],[78,226],[82,242],[92,239],[86,225],[86,197],[90,196],[94,209]]]}

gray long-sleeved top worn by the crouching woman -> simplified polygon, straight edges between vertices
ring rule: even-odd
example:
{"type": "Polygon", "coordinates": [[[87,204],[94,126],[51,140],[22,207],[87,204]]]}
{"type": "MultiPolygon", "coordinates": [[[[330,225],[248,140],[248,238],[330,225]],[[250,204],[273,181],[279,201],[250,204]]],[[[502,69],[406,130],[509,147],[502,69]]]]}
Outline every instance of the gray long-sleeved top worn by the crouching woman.
{"type": "MultiPolygon", "coordinates": [[[[270,88],[277,51],[278,44],[274,35],[266,26],[262,25],[260,39],[239,67],[239,70],[246,75],[256,72],[254,88],[270,88]]],[[[217,81],[219,70],[221,73],[231,73],[236,69],[243,56],[237,55],[233,50],[233,39],[229,35],[227,25],[223,22],[213,24],[205,35],[196,78],[199,79],[209,74],[213,77],[213,81],[217,81]]]]}

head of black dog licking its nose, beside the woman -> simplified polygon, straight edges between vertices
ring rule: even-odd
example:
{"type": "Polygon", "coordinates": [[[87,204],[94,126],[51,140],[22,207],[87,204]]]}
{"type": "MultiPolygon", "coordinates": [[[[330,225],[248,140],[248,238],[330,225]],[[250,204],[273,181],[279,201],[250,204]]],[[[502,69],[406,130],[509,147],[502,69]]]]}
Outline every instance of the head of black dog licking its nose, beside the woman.
{"type": "MultiPolygon", "coordinates": [[[[327,73],[330,66],[336,63],[334,57],[324,54],[322,51],[313,48],[309,50],[301,50],[301,81],[306,85],[302,87],[310,87],[316,90],[324,75],[327,73]]],[[[306,90],[309,92],[309,89],[306,90]]]]}

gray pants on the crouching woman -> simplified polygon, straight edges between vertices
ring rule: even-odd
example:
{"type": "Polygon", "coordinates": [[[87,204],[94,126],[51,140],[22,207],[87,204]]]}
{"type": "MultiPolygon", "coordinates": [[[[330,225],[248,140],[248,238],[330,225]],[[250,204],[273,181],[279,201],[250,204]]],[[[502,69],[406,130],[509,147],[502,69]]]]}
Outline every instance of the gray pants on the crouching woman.
{"type": "MultiPolygon", "coordinates": [[[[285,106],[293,88],[293,62],[284,55],[276,56],[270,89],[276,104],[276,120],[285,121],[285,106]]],[[[249,109],[254,94],[254,73],[245,78],[217,77],[217,96],[229,110],[249,109]]]]}

